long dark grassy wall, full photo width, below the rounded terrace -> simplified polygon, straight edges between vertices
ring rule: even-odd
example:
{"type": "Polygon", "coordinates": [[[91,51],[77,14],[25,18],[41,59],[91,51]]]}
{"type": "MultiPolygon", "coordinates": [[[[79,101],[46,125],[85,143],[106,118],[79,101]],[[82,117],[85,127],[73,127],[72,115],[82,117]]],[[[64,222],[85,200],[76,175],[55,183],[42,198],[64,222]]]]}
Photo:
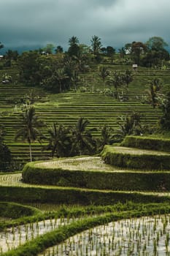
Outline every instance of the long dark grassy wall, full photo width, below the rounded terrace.
{"type": "Polygon", "coordinates": [[[169,196],[140,192],[114,192],[59,187],[0,187],[0,200],[19,203],[55,203],[67,205],[107,206],[117,202],[163,203],[169,196]]]}

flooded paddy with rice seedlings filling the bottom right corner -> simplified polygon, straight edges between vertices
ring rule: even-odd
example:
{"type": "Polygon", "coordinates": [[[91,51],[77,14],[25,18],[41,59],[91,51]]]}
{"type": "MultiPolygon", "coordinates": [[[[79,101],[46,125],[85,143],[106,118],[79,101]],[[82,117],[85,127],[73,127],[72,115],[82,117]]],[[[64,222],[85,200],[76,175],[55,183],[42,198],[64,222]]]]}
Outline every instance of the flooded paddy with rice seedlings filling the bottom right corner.
{"type": "Polygon", "coordinates": [[[93,227],[48,248],[39,256],[167,256],[169,215],[123,219],[93,227]]]}

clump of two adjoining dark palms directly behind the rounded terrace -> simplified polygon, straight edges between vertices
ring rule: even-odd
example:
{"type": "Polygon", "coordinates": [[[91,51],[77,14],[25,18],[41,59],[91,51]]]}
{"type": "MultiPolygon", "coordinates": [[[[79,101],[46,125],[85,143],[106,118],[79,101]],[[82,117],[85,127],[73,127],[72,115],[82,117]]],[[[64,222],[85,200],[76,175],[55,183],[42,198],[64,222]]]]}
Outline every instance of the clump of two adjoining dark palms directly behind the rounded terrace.
{"type": "Polygon", "coordinates": [[[96,152],[96,140],[91,132],[96,129],[87,129],[90,122],[80,117],[73,126],[64,127],[53,123],[48,129],[50,137],[43,137],[48,141],[42,150],[50,150],[52,157],[69,157],[77,154],[93,154],[96,152]]]}

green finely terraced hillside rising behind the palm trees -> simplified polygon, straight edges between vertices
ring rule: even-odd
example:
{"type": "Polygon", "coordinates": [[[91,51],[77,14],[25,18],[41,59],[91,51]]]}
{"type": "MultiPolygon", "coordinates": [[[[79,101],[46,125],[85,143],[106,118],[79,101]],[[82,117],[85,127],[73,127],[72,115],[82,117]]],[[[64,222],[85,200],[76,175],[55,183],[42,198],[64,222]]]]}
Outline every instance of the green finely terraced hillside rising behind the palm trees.
{"type": "MultiPolygon", "coordinates": [[[[118,66],[107,64],[111,72],[115,70],[124,72],[131,69],[128,66],[118,66]]],[[[82,116],[90,121],[89,127],[96,127],[95,136],[100,136],[100,128],[104,124],[117,129],[117,118],[125,116],[127,113],[137,111],[142,115],[142,124],[149,124],[150,127],[158,123],[158,116],[161,110],[152,108],[148,104],[142,103],[142,97],[148,89],[148,81],[157,77],[163,84],[163,91],[169,85],[169,70],[147,69],[139,67],[134,72],[134,80],[128,86],[128,101],[118,101],[115,97],[104,93],[108,89],[107,79],[104,81],[98,75],[98,66],[93,65],[88,72],[80,75],[81,81],[77,91],[68,91],[62,94],[50,94],[41,88],[35,88],[39,95],[39,101],[35,102],[36,115],[50,126],[53,122],[66,126],[75,124],[82,116]],[[84,91],[85,89],[85,91],[84,91]]],[[[20,141],[14,142],[15,132],[20,127],[18,116],[24,95],[28,94],[31,87],[18,83],[18,68],[0,70],[0,121],[7,129],[5,142],[12,151],[12,157],[18,162],[28,160],[28,145],[20,141]],[[3,84],[2,75],[7,73],[12,76],[12,84],[3,84]]],[[[113,89],[112,89],[113,90],[113,89]]],[[[47,128],[42,130],[47,134],[47,128]]],[[[50,152],[42,152],[39,143],[33,143],[34,159],[42,159],[50,156],[50,152]]]]}

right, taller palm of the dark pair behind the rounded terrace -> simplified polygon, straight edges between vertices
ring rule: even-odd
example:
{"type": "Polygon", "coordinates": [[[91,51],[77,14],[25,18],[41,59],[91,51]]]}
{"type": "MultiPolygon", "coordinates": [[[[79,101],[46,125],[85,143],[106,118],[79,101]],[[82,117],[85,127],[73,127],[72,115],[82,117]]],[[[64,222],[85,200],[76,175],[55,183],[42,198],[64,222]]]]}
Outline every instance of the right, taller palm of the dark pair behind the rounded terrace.
{"type": "Polygon", "coordinates": [[[90,132],[95,131],[96,129],[88,129],[88,124],[90,121],[86,118],[80,117],[72,127],[72,152],[78,152],[80,155],[88,153],[92,153],[96,150],[96,141],[93,140],[93,137],[90,132]]]}

